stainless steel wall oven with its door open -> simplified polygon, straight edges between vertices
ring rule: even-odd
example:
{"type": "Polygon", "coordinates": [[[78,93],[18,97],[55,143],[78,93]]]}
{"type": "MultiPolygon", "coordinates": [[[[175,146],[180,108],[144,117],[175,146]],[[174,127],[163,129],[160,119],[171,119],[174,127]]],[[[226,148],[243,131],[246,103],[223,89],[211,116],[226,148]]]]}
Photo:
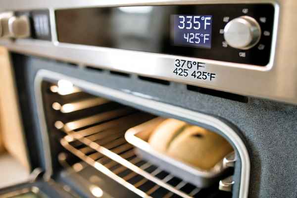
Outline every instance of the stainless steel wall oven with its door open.
{"type": "Polygon", "coordinates": [[[32,167],[0,196],[297,196],[295,0],[0,7],[32,167]],[[233,152],[207,171],[158,153],[148,128],[165,118],[233,152]]]}

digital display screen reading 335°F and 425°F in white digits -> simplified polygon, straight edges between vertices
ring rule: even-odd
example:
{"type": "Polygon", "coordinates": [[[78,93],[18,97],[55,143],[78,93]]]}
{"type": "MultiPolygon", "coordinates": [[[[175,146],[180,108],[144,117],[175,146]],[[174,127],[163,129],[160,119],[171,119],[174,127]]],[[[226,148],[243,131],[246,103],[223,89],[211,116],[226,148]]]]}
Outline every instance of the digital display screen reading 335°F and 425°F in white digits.
{"type": "Polygon", "coordinates": [[[174,46],[211,48],[212,16],[171,15],[171,40],[174,46]]]}

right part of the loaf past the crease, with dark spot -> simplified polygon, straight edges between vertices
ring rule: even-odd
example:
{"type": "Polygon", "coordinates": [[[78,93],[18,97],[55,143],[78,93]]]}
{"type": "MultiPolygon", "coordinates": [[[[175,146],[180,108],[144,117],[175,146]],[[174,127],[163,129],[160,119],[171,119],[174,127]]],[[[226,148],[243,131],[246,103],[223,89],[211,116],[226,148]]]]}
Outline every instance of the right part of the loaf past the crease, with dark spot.
{"type": "Polygon", "coordinates": [[[167,154],[190,165],[209,170],[233,150],[220,135],[206,129],[187,127],[167,149],[167,154]]]}

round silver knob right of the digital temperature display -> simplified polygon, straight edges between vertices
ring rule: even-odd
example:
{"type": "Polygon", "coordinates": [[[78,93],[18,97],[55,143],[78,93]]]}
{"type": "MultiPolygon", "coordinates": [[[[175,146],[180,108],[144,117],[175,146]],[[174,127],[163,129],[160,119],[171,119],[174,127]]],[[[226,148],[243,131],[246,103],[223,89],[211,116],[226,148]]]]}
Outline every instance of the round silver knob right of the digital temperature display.
{"type": "Polygon", "coordinates": [[[237,49],[250,49],[260,40],[261,27],[249,16],[241,16],[231,20],[224,29],[227,44],[237,49]]]}

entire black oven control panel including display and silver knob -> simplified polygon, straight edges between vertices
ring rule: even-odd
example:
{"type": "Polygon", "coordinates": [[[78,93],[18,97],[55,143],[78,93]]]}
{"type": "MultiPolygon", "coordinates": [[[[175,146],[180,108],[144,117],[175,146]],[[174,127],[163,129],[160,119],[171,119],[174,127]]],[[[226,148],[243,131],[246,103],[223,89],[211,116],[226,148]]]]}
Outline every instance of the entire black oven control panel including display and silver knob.
{"type": "Polygon", "coordinates": [[[61,43],[265,66],[274,12],[273,4],[92,7],[57,9],[55,19],[61,43]]]}

